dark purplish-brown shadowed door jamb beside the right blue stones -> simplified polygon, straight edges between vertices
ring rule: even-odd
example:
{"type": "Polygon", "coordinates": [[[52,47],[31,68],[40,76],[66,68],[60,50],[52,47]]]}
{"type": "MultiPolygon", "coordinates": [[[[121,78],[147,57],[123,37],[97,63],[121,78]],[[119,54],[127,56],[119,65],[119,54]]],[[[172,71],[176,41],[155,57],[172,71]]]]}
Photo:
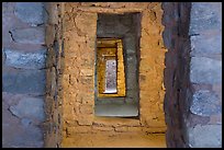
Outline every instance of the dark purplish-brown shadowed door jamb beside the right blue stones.
{"type": "Polygon", "coordinates": [[[188,36],[191,3],[163,3],[165,25],[164,42],[166,53],[165,69],[165,119],[167,124],[166,142],[168,148],[188,147],[186,118],[189,116],[189,64],[190,39],[188,36]]]}

